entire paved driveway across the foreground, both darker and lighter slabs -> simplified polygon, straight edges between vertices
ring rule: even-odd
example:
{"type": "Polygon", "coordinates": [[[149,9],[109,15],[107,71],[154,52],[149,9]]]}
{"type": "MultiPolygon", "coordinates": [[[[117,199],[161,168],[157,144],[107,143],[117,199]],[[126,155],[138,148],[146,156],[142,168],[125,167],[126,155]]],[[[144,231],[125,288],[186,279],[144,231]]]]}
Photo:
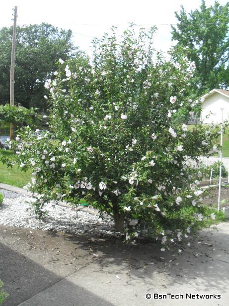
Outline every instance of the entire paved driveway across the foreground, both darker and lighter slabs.
{"type": "Polygon", "coordinates": [[[10,294],[2,306],[229,305],[227,222],[200,232],[180,255],[153,243],[0,230],[0,278],[10,294]]]}

